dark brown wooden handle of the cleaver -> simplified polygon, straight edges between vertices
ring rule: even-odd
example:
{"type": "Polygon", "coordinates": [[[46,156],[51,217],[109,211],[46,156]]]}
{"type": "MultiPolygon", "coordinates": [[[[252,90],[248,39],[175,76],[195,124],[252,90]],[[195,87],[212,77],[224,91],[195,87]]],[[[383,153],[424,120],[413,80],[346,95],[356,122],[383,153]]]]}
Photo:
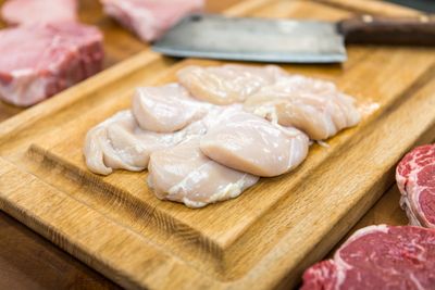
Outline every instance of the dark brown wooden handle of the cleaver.
{"type": "Polygon", "coordinates": [[[344,20],[338,30],[347,43],[435,46],[435,17],[386,18],[370,15],[344,20]]]}

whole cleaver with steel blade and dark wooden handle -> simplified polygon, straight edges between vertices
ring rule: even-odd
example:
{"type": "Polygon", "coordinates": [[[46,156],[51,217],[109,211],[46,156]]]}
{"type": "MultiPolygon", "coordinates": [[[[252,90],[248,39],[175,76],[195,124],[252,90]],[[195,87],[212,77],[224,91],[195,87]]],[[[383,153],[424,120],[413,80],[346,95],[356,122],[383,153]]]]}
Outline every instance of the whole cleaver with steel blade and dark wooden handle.
{"type": "Polygon", "coordinates": [[[435,18],[370,15],[338,23],[192,14],[152,45],[178,58],[275,62],[339,63],[345,43],[434,46],[435,18]]]}

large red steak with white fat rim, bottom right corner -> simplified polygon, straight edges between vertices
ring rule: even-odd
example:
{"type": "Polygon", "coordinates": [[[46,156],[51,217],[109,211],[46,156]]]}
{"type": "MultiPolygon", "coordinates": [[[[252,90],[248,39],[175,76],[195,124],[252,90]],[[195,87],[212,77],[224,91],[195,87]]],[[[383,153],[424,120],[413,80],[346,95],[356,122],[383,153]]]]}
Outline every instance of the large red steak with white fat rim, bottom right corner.
{"type": "Polygon", "coordinates": [[[301,290],[434,290],[435,230],[371,226],[303,274],[301,290]]]}

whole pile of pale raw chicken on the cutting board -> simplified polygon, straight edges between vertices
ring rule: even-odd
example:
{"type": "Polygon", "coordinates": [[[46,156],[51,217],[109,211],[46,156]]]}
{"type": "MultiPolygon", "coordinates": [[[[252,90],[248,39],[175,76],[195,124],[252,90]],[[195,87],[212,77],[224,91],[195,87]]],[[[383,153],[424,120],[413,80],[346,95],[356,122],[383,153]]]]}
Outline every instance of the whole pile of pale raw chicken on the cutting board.
{"type": "Polygon", "coordinates": [[[178,84],[138,88],[132,110],[91,128],[90,171],[149,171],[163,200],[189,207],[238,197],[278,176],[322,141],[360,121],[355,100],[332,83],[277,66],[187,66],[178,84]]]}

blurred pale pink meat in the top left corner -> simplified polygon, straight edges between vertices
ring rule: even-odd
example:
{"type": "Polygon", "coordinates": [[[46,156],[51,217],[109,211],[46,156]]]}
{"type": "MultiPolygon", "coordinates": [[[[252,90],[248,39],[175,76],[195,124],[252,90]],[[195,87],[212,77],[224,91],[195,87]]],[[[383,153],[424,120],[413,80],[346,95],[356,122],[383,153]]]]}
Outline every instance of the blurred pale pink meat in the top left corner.
{"type": "Polygon", "coordinates": [[[77,0],[9,0],[1,9],[1,16],[12,25],[75,22],[77,0]]]}

